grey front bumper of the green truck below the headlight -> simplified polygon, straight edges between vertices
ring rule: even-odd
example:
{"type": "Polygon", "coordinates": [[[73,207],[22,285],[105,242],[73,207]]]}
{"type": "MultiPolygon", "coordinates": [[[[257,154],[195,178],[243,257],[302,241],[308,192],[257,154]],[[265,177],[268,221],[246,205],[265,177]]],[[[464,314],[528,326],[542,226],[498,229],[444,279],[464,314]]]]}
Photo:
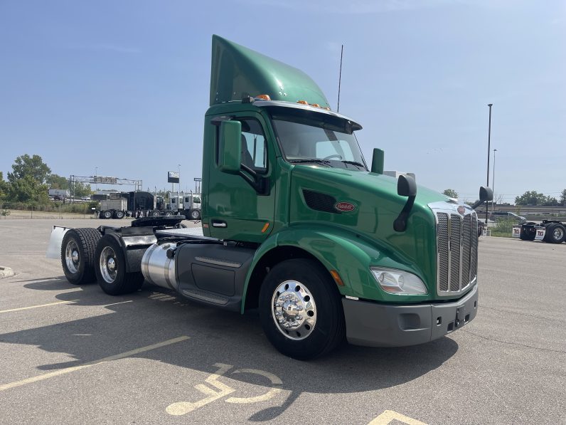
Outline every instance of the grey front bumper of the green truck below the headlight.
{"type": "Polygon", "coordinates": [[[417,345],[453,332],[474,320],[478,285],[454,303],[383,305],[342,299],[346,337],[353,345],[403,347],[417,345]]]}

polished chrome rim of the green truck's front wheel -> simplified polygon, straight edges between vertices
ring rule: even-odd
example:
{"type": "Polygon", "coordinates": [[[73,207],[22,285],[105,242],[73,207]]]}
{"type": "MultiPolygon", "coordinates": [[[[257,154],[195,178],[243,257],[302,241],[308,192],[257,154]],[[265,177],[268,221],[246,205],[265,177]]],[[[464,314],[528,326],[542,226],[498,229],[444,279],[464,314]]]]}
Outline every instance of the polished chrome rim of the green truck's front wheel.
{"type": "Polygon", "coordinates": [[[289,340],[304,340],[316,325],[316,303],[297,280],[285,280],[274,290],[272,317],[279,332],[289,340]]]}

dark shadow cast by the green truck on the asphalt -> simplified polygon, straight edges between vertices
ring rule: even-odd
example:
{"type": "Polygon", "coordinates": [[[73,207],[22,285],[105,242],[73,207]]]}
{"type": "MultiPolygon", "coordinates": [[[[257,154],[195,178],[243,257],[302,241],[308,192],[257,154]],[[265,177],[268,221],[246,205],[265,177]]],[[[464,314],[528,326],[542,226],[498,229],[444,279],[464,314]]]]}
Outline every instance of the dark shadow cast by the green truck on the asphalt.
{"type": "MultiPolygon", "coordinates": [[[[34,290],[73,288],[65,280],[28,283],[34,290]]],[[[75,360],[43,364],[38,369],[77,366],[187,335],[189,340],[143,352],[134,357],[156,360],[212,374],[215,363],[269,371],[282,379],[290,393],[280,405],[253,414],[251,421],[269,421],[282,414],[303,392],[340,394],[384,389],[410,382],[449,360],[458,345],[444,337],[425,345],[403,348],[368,348],[345,345],[327,357],[301,362],[284,357],[262,333],[256,312],[246,315],[215,310],[191,303],[162,288],[144,285],[129,295],[110,297],[97,285],[58,294],[59,300],[75,300],[70,308],[105,306],[105,313],[60,322],[36,329],[0,335],[4,343],[37,345],[47,352],[62,352],[75,360]],[[171,295],[171,296],[168,296],[171,295]]],[[[65,316],[65,317],[68,317],[65,316]]],[[[257,383],[250,374],[227,378],[257,383]]],[[[187,382],[192,388],[197,382],[187,382]]],[[[265,384],[265,383],[264,383],[265,384]]]]}

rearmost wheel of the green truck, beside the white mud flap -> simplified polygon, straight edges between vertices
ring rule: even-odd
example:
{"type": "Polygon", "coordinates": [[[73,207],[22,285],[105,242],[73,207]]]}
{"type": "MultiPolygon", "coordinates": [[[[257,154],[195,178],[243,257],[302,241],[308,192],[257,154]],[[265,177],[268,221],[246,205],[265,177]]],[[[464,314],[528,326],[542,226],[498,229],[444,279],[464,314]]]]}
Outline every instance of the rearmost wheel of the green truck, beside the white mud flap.
{"type": "Polygon", "coordinates": [[[65,278],[74,285],[95,281],[95,250],[102,235],[97,229],[70,229],[61,243],[65,278]]]}

